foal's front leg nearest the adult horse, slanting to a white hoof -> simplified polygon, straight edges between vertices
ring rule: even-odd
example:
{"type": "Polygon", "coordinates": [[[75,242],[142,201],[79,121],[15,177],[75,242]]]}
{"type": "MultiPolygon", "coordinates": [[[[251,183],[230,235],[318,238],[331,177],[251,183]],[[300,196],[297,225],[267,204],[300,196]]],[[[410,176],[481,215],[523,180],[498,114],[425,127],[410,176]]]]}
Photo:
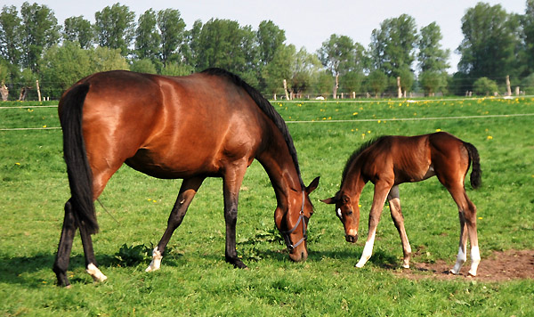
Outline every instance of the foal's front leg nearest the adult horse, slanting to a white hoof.
{"type": "Polygon", "coordinates": [[[385,199],[391,188],[392,185],[389,183],[379,182],[375,184],[373,205],[369,214],[368,240],[365,242],[365,247],[363,248],[363,252],[361,253],[360,261],[358,262],[358,264],[356,264],[356,267],[363,267],[363,265],[368,262],[368,259],[373,254],[376,227],[380,222],[380,215],[382,215],[382,209],[384,208],[385,199]]]}

